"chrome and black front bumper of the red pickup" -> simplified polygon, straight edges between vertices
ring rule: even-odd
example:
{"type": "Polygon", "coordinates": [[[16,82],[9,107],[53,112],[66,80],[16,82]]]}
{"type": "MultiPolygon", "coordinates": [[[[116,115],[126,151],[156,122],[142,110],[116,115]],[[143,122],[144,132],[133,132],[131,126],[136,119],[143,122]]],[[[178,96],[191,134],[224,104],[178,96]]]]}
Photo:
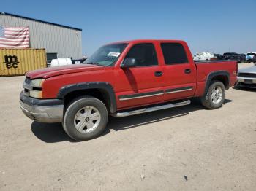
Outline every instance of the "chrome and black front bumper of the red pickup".
{"type": "Polygon", "coordinates": [[[37,99],[20,93],[20,109],[31,120],[38,122],[62,122],[64,101],[37,99]]]}

